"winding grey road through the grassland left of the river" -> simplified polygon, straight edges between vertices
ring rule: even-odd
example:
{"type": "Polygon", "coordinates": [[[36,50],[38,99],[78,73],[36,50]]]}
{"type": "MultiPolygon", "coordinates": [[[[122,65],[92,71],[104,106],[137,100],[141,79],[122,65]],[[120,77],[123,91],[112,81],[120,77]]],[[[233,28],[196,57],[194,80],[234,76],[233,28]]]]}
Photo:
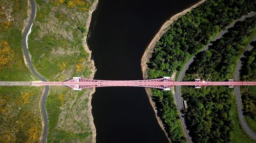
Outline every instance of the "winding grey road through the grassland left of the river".
{"type": "MultiPolygon", "coordinates": [[[[33,20],[35,19],[35,15],[36,15],[36,4],[35,4],[35,1],[34,0],[30,0],[30,3],[31,3],[31,16],[30,16],[30,19],[29,19],[29,24],[28,24],[28,27],[26,28],[25,32],[24,32],[24,35],[23,35],[23,50],[24,50],[24,54],[26,56],[26,60],[28,62],[28,66],[30,68],[30,70],[32,71],[32,73],[38,77],[40,80],[42,81],[47,81],[46,78],[42,77],[41,75],[39,75],[33,65],[32,65],[32,62],[31,62],[31,58],[30,58],[30,55],[29,55],[29,51],[28,51],[28,35],[30,34],[31,32],[31,27],[32,27],[32,24],[33,24],[33,20]]],[[[47,112],[46,112],[46,107],[45,107],[45,102],[46,102],[46,98],[48,96],[48,93],[49,93],[49,86],[45,86],[45,91],[44,91],[44,94],[42,95],[42,101],[41,101],[41,112],[42,112],[42,118],[44,120],[44,130],[43,130],[43,133],[42,133],[42,142],[45,143],[47,140],[46,140],[46,136],[47,136],[47,131],[48,131],[48,118],[47,118],[47,112]]]]}

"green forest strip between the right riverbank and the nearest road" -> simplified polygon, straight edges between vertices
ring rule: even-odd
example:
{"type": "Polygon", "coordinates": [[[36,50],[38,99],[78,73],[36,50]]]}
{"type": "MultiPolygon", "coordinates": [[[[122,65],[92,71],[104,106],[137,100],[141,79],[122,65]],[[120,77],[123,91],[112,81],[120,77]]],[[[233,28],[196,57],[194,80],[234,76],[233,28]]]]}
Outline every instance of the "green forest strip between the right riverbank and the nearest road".
{"type": "MultiPolygon", "coordinates": [[[[175,70],[181,70],[183,64],[221,30],[253,10],[255,6],[251,0],[211,0],[181,16],[157,42],[152,58],[147,63],[148,77],[170,76],[175,70]]],[[[229,49],[232,50],[231,47],[229,49]]],[[[227,91],[223,92],[228,95],[227,91]]],[[[163,120],[172,142],[185,142],[172,94],[152,90],[152,96],[158,105],[158,116],[163,120]]]]}

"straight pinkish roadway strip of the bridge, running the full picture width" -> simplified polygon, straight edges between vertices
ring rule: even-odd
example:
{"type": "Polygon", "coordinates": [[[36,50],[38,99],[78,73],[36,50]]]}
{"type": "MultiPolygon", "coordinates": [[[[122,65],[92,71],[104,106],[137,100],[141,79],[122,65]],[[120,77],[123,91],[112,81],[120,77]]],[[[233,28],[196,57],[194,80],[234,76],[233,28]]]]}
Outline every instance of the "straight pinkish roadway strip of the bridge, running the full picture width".
{"type": "Polygon", "coordinates": [[[147,87],[147,86],[176,86],[176,85],[256,85],[256,81],[143,81],[143,80],[98,80],[98,81],[0,81],[0,85],[4,86],[41,86],[41,85],[86,85],[90,87],[147,87]]]}

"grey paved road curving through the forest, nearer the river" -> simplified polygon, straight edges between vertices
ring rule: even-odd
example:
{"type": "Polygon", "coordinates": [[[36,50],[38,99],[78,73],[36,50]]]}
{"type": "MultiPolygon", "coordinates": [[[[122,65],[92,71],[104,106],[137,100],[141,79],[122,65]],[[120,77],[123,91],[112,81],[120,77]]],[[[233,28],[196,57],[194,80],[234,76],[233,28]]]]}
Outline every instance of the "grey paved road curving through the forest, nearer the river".
{"type": "MultiPolygon", "coordinates": [[[[204,46],[204,48],[202,48],[200,51],[205,51],[209,48],[210,45],[212,45],[213,41],[216,41],[217,39],[220,39],[225,33],[227,33],[228,28],[233,27],[234,23],[236,23],[237,21],[243,21],[245,18],[247,17],[252,17],[256,14],[256,12],[251,12],[248,15],[242,16],[241,18],[235,20],[234,22],[232,22],[230,25],[228,25],[224,31],[220,32],[214,39],[212,39],[212,41],[210,43],[208,43],[207,45],[204,46]]],[[[193,56],[191,59],[188,60],[188,62],[184,65],[183,69],[181,70],[179,76],[178,76],[178,81],[182,81],[186,70],[188,69],[189,65],[191,63],[193,63],[195,56],[193,56]]],[[[189,131],[186,130],[186,125],[184,122],[184,118],[183,115],[181,114],[181,110],[183,110],[183,106],[182,106],[182,99],[181,99],[181,88],[180,86],[176,87],[176,95],[175,95],[175,100],[176,100],[176,104],[177,104],[177,108],[179,110],[179,115],[181,117],[181,123],[182,123],[182,128],[185,131],[185,136],[188,138],[188,142],[192,142],[191,137],[188,135],[189,131]]]]}

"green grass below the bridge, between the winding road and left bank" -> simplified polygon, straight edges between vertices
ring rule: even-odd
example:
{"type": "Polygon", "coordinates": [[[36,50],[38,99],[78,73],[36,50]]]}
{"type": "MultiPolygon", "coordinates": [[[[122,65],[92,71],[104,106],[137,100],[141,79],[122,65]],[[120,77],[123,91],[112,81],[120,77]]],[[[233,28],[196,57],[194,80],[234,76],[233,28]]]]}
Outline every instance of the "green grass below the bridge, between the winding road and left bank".
{"type": "MultiPolygon", "coordinates": [[[[67,87],[58,87],[58,88],[51,87],[50,92],[51,93],[49,93],[49,96],[46,102],[48,120],[49,120],[48,142],[61,142],[61,141],[69,142],[76,138],[86,140],[86,142],[91,142],[90,136],[92,135],[92,132],[89,124],[84,126],[84,123],[82,122],[78,122],[76,120],[73,121],[74,124],[76,125],[74,126],[74,128],[77,128],[79,130],[84,130],[84,132],[82,133],[72,133],[69,131],[57,129],[60,114],[62,111],[65,111],[65,110],[61,110],[59,107],[65,106],[66,102],[74,101],[72,103],[72,106],[69,106],[68,108],[72,110],[73,108],[79,106],[80,108],[76,108],[75,111],[81,112],[82,110],[85,109],[84,107],[87,106],[89,99],[86,98],[84,101],[82,101],[82,104],[81,104],[81,103],[77,103],[81,99],[75,99],[75,97],[76,96],[81,97],[82,95],[85,94],[84,93],[85,91],[73,91],[72,89],[67,87]],[[65,95],[68,92],[71,92],[72,94],[65,95]],[[61,102],[59,98],[61,94],[65,95],[64,102],[61,102]]],[[[73,117],[76,115],[75,113],[73,115],[70,115],[69,113],[66,112],[65,116],[67,116],[66,118],[68,118],[68,116],[73,117]]],[[[83,118],[87,118],[87,117],[83,117],[83,118]]]]}

